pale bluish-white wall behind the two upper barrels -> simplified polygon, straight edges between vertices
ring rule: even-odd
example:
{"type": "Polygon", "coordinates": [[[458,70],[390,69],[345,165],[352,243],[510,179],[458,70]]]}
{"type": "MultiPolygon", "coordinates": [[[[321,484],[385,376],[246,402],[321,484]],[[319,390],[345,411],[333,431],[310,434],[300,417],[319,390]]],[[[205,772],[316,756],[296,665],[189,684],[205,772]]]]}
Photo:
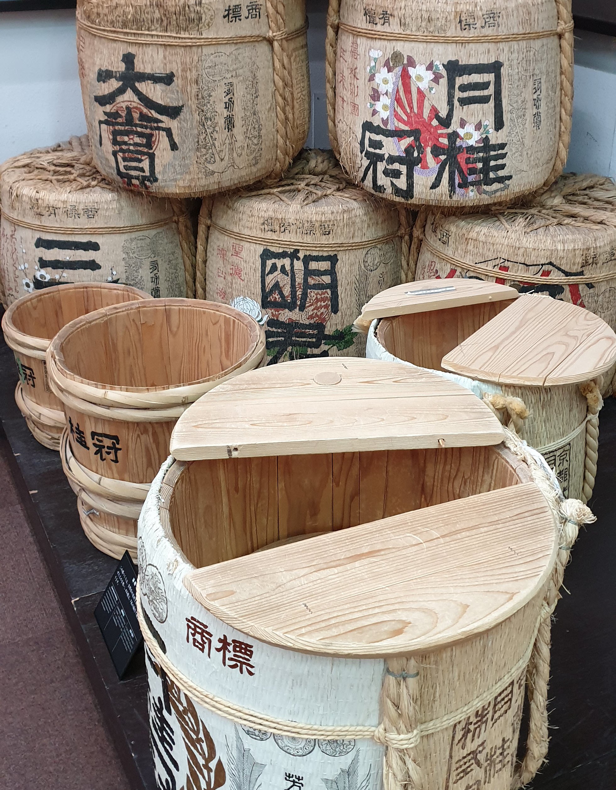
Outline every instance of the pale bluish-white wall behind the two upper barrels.
{"type": "MultiPolygon", "coordinates": [[[[329,148],[325,111],[325,0],[308,0],[312,126],[329,148]]],[[[568,170],[616,177],[616,39],[576,31],[568,170]]],[[[74,11],[0,13],[0,161],[85,132],[74,11]]]]}

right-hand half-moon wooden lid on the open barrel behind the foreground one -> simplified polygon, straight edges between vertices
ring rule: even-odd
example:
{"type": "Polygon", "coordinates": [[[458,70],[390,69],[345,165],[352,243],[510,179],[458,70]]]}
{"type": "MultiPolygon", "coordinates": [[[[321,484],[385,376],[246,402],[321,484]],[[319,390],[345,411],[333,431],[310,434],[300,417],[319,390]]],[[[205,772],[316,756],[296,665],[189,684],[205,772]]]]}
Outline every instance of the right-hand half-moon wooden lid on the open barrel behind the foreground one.
{"type": "Polygon", "coordinates": [[[498,384],[588,382],[616,362],[616,334],[584,307],[527,294],[443,357],[448,371],[498,384]]]}

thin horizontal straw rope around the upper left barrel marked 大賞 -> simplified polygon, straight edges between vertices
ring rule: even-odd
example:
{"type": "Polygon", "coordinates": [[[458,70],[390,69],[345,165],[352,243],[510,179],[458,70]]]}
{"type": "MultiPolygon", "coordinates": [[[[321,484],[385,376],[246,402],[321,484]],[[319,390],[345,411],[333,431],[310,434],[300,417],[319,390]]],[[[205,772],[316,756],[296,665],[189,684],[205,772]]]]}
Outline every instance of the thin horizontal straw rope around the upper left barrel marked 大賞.
{"type": "Polygon", "coordinates": [[[126,30],[124,28],[103,28],[96,24],[86,22],[80,13],[77,13],[77,27],[97,36],[100,39],[111,41],[124,41],[135,44],[161,44],[167,47],[210,47],[224,44],[250,44],[260,41],[290,41],[301,36],[308,30],[308,23],[295,30],[282,30],[268,33],[258,33],[254,36],[191,36],[189,33],[161,33],[151,30],[126,30]]]}

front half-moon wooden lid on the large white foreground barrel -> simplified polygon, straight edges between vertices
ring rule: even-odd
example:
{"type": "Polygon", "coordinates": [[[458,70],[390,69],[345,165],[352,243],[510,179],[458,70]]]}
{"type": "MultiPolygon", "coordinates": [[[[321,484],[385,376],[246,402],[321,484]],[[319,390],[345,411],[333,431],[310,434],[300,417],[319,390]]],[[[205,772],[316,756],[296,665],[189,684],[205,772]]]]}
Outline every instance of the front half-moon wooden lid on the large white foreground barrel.
{"type": "Polygon", "coordinates": [[[401,655],[513,615],[542,589],[556,551],[550,506],[522,483],[192,570],[184,585],[272,645],[401,655]]]}

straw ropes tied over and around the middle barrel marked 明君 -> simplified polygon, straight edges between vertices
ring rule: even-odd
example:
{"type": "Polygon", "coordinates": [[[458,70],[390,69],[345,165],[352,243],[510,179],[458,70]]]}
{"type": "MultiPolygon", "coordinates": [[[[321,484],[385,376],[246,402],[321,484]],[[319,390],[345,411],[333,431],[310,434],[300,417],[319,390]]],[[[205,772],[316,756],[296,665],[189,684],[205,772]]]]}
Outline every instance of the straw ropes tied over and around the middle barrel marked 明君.
{"type": "MultiPolygon", "coordinates": [[[[342,201],[370,201],[373,204],[383,205],[383,201],[364,190],[359,190],[345,175],[331,151],[322,149],[304,149],[293,162],[293,166],[286,172],[282,181],[275,184],[269,179],[254,186],[241,188],[230,193],[231,198],[255,198],[261,195],[270,195],[286,205],[312,205],[336,195],[342,201]]],[[[259,236],[248,235],[222,228],[212,221],[212,208],[214,198],[203,198],[199,211],[197,234],[197,261],[196,261],[196,295],[197,299],[206,298],[206,267],[207,267],[207,241],[210,228],[214,227],[221,233],[241,241],[256,244],[272,244],[272,239],[263,239],[259,236]]],[[[375,246],[395,239],[401,239],[400,268],[402,280],[406,281],[409,269],[410,255],[410,221],[409,213],[403,206],[398,208],[399,229],[393,234],[380,239],[361,239],[354,242],[339,242],[335,246],[338,250],[359,250],[364,247],[375,246]]],[[[285,244],[293,246],[309,246],[311,249],[331,249],[331,243],[293,241],[285,239],[285,244]]]]}

